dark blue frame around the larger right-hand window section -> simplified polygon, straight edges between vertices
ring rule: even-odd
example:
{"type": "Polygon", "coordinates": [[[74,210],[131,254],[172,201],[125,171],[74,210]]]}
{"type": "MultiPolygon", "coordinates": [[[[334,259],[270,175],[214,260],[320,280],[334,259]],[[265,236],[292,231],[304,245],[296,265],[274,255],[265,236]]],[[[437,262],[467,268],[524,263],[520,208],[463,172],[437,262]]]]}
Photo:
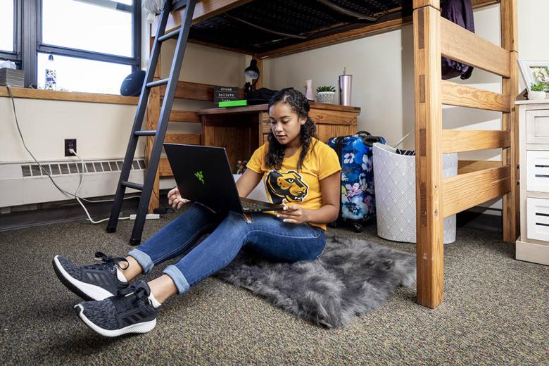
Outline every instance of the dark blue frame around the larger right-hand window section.
{"type": "MultiPolygon", "coordinates": [[[[20,21],[18,25],[23,25],[25,33],[22,36],[20,28],[18,37],[23,37],[20,63],[25,73],[25,87],[36,85],[38,80],[38,53],[50,53],[58,56],[68,56],[84,58],[87,60],[103,61],[108,63],[119,63],[121,65],[131,65],[132,71],[141,68],[141,0],[134,0],[134,4],[126,5],[116,3],[120,10],[132,13],[132,57],[118,56],[111,53],[101,53],[96,51],[85,51],[81,49],[72,49],[70,47],[56,46],[42,42],[42,0],[25,1],[25,8],[22,9],[20,3],[22,0],[15,0],[19,3],[18,16],[20,21]]],[[[103,3],[105,0],[79,0],[89,3],[103,3]]],[[[108,1],[111,3],[111,1],[108,1]]],[[[21,43],[20,43],[21,44],[21,43]]],[[[1,53],[0,53],[1,57],[1,53]]]]}

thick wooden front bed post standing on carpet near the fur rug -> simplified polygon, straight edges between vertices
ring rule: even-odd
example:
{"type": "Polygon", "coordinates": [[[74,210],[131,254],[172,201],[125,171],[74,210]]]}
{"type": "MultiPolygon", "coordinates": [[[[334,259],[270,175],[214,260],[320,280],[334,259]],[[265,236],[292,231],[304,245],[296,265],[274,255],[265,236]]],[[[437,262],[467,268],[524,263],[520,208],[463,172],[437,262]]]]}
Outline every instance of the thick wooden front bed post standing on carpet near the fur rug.
{"type": "Polygon", "coordinates": [[[417,303],[436,308],[444,291],[441,12],[414,0],[417,303]]]}

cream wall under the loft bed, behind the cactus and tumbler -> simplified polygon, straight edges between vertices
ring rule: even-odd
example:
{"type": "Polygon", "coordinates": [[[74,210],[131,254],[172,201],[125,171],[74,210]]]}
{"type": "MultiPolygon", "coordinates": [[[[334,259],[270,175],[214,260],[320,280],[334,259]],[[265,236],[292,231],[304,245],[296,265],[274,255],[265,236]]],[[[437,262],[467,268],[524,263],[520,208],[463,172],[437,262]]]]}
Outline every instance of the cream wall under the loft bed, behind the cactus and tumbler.
{"type": "Polygon", "coordinates": [[[351,102],[361,108],[359,130],[396,141],[413,127],[412,27],[263,61],[271,89],[294,87],[305,92],[305,80],[313,89],[337,88],[346,67],[353,75],[351,102]]]}

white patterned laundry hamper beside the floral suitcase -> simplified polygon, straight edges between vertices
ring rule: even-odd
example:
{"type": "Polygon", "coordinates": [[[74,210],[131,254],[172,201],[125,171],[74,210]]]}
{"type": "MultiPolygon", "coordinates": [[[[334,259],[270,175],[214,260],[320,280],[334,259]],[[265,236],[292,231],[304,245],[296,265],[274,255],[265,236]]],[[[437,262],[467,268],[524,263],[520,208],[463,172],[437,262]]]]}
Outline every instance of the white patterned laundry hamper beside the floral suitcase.
{"type": "MultiPolygon", "coordinates": [[[[392,241],[416,242],[415,156],[374,144],[374,188],[377,234],[392,241]]],[[[457,175],[457,153],[443,154],[443,177],[457,175]]],[[[443,243],[455,241],[455,215],[444,219],[443,243]]]]}

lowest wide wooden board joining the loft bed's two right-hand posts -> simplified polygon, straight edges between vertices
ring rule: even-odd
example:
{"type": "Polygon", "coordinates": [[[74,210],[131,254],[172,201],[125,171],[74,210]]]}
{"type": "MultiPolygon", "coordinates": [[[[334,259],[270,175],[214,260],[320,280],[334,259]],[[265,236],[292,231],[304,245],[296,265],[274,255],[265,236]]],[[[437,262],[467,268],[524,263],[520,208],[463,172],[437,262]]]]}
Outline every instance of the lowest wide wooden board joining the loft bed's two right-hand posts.
{"type": "Polygon", "coordinates": [[[443,217],[460,213],[511,189],[510,167],[504,165],[443,180],[443,217]]]}

